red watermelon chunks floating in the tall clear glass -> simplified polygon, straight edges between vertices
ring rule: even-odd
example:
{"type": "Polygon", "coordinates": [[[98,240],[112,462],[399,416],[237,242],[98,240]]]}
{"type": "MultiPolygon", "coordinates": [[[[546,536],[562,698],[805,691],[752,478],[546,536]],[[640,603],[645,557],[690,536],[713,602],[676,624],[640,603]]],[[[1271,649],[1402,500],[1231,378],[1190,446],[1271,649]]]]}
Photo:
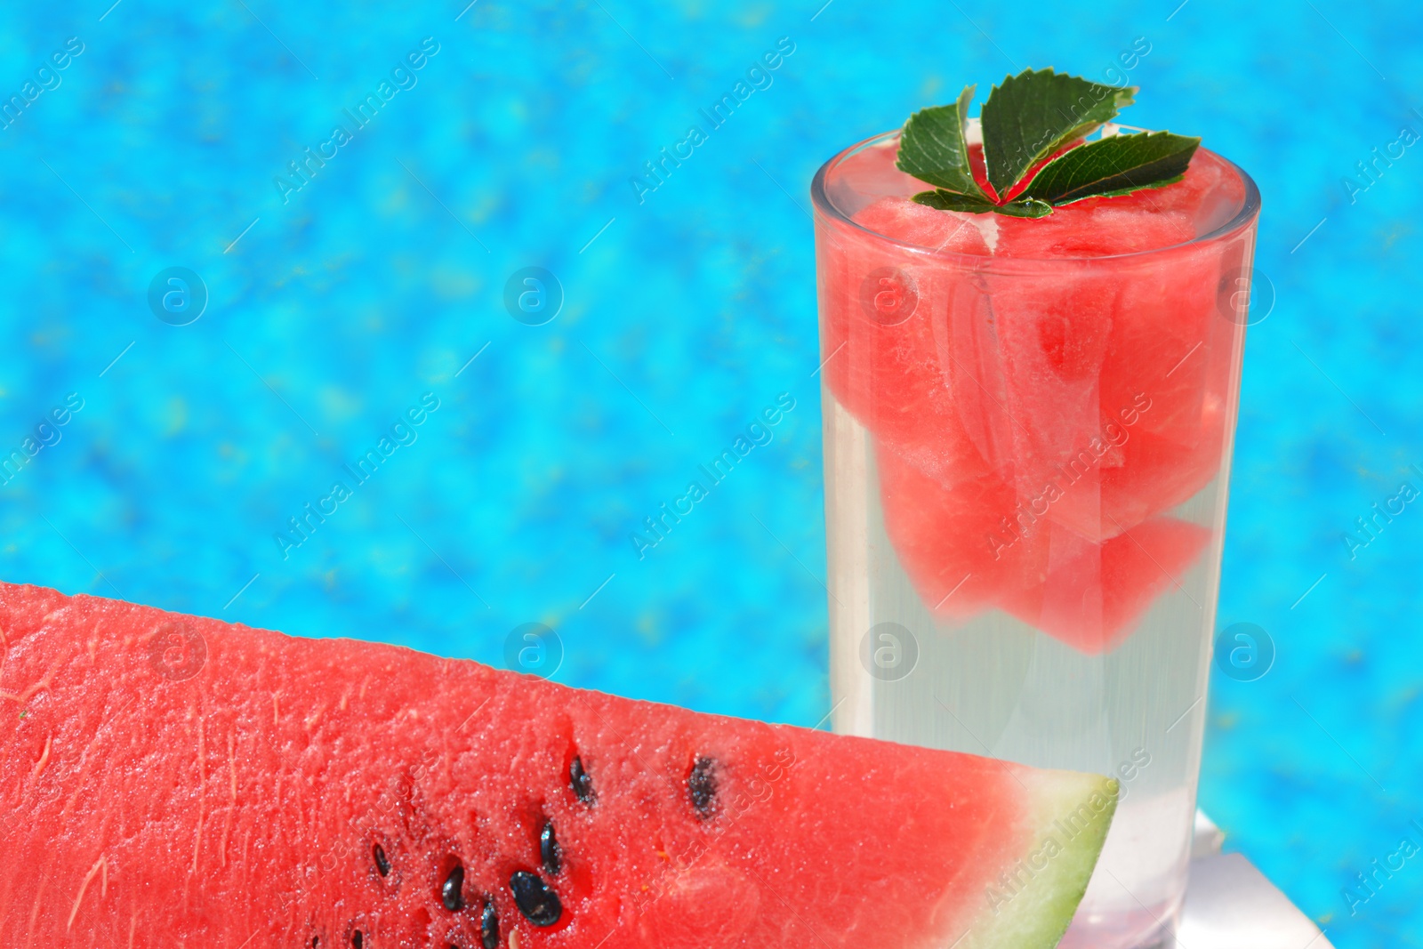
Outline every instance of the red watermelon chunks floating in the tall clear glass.
{"type": "Polygon", "coordinates": [[[905,196],[922,182],[889,168],[894,149],[865,151],[855,172],[879,188],[854,222],[924,249],[820,221],[822,357],[834,353],[827,386],[879,447],[901,563],[949,616],[996,606],[1089,652],[1118,642],[1164,589],[1143,549],[1185,569],[1208,539],[1160,518],[1220,472],[1242,333],[1222,293],[1238,289],[1248,245],[1188,242],[1238,211],[1244,182],[1198,152],[1174,185],[1043,219],[926,215],[905,196]],[[1155,253],[1123,256],[1143,250],[1155,253]],[[916,267],[914,319],[857,324],[857,282],[904,260],[916,267]],[[988,538],[1023,508],[1056,539],[1005,553],[988,538]],[[1147,544],[1110,544],[1146,525],[1147,544]],[[1079,545],[1089,552],[1069,556],[1079,545]],[[1110,568],[1118,588],[1099,596],[1100,616],[1043,600],[1049,558],[1063,576],[1110,568]]]}

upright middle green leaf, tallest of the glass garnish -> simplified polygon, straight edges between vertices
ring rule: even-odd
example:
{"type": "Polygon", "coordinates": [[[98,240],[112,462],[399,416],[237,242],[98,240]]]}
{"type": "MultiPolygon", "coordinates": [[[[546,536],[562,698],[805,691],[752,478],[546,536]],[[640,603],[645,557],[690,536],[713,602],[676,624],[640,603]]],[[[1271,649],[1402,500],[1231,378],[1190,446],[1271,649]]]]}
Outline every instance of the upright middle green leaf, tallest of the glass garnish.
{"type": "Polygon", "coordinates": [[[983,104],[989,184],[999,195],[1007,193],[1035,164],[1131,105],[1136,91],[1134,85],[1099,85],[1052,68],[1009,75],[983,104]]]}

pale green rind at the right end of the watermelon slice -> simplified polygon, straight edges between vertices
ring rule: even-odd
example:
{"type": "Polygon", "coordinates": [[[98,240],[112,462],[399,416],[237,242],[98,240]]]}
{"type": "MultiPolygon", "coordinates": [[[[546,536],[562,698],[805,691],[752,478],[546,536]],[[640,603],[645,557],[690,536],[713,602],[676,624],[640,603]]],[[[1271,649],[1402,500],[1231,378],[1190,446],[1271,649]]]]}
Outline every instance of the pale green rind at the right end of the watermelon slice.
{"type": "Polygon", "coordinates": [[[989,882],[983,911],[952,949],[1053,949],[1062,942],[1117,811],[1114,778],[1016,767],[1012,773],[1032,801],[1022,818],[1030,842],[989,882]]]}

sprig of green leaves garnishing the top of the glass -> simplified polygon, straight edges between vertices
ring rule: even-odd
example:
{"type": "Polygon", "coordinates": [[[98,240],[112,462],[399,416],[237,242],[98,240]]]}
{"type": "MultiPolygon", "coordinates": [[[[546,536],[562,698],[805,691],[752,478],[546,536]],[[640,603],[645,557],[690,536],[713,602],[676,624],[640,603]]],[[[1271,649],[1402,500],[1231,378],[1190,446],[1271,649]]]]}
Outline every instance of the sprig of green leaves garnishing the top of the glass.
{"type": "Polygon", "coordinates": [[[990,195],[973,176],[965,132],[975,88],[968,85],[952,105],[922,110],[905,122],[895,165],[935,185],[914,196],[918,203],[1043,218],[1053,208],[1084,198],[1177,182],[1201,142],[1171,132],[1143,132],[1074,145],[1131,105],[1136,87],[1100,85],[1050,68],[1023,70],[992,88],[980,114],[990,195]]]}

